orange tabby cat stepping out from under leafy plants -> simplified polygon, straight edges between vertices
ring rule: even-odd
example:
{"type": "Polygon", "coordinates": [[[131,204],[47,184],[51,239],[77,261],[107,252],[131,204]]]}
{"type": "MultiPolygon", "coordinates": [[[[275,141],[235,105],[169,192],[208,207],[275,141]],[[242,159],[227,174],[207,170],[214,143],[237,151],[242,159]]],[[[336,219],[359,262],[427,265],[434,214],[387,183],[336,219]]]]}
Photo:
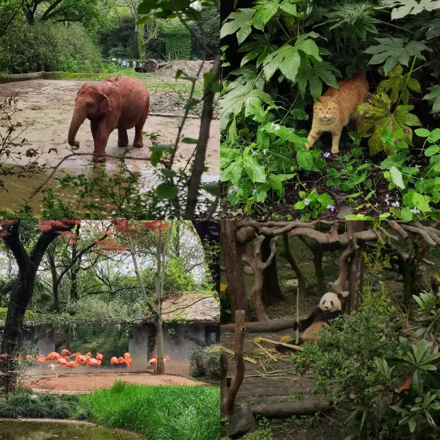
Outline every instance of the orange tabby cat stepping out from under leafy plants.
{"type": "Polygon", "coordinates": [[[349,120],[358,118],[355,107],[365,102],[369,93],[369,83],[365,72],[358,70],[351,78],[338,81],[339,90],[329,88],[320,100],[315,100],[314,120],[305,144],[307,150],[319,139],[325,131],[332,135],[331,153],[339,153],[339,140],[342,127],[349,120]]]}

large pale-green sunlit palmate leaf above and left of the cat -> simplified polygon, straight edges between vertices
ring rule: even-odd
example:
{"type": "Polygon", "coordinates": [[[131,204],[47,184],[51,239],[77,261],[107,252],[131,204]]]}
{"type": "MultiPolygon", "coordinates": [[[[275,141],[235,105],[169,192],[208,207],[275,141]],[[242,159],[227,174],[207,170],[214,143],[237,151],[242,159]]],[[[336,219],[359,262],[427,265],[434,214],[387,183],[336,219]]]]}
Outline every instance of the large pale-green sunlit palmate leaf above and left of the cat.
{"type": "Polygon", "coordinates": [[[319,54],[319,48],[312,40],[312,38],[316,38],[317,36],[318,34],[316,34],[316,32],[302,34],[296,39],[294,46],[287,43],[275,52],[272,52],[272,54],[266,56],[263,61],[263,72],[266,80],[269,81],[279,69],[288,80],[295,83],[296,74],[298,74],[301,63],[299,51],[321,62],[322,58],[319,54]]]}

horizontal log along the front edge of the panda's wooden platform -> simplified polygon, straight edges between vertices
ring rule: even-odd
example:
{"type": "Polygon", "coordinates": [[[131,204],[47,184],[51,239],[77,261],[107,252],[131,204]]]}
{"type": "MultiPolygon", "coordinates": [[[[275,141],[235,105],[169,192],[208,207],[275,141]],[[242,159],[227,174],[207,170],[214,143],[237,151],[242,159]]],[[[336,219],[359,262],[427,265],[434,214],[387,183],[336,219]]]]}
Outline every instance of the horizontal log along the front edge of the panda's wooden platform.
{"type": "Polygon", "coordinates": [[[252,405],[254,415],[262,417],[284,417],[291,415],[309,415],[316,411],[331,410],[330,401],[327,399],[282,401],[274,404],[252,405]]]}

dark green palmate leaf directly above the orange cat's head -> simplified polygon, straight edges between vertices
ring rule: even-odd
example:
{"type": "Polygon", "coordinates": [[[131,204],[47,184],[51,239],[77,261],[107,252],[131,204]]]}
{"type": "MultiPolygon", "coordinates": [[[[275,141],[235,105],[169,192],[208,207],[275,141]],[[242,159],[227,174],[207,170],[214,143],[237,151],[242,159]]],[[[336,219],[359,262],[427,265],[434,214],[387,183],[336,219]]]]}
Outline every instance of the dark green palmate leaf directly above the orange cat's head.
{"type": "Polygon", "coordinates": [[[327,63],[327,61],[322,61],[322,63],[314,63],[313,67],[311,65],[300,66],[296,76],[296,83],[303,97],[307,83],[309,83],[311,96],[318,99],[322,95],[322,83],[326,83],[333,87],[333,89],[339,90],[336,76],[342,76],[339,70],[330,63],[327,63]]]}

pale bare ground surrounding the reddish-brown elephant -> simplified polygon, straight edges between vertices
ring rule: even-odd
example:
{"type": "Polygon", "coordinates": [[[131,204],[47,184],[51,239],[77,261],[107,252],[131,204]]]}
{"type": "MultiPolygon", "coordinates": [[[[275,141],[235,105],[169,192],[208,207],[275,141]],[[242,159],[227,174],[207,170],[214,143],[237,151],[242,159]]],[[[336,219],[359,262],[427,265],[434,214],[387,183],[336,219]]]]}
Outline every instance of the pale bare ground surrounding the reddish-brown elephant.
{"type": "MultiPolygon", "coordinates": [[[[170,80],[170,78],[162,78],[170,80]]],[[[174,80],[170,80],[174,81],[174,80]]],[[[8,83],[0,85],[0,100],[10,96],[17,96],[17,107],[21,110],[14,115],[14,121],[19,121],[23,125],[29,125],[24,133],[27,140],[24,146],[36,148],[41,153],[41,164],[54,166],[58,162],[72,153],[67,143],[67,132],[69,130],[70,119],[74,110],[74,101],[78,89],[84,81],[73,80],[30,80],[20,83],[8,83]],[[56,148],[56,152],[50,150],[56,148]]],[[[184,103],[181,102],[179,95],[168,89],[154,88],[151,91],[151,113],[174,113],[182,114],[184,103]]],[[[174,143],[177,135],[177,126],[180,118],[163,118],[157,116],[148,116],[144,131],[146,133],[155,133],[159,135],[159,144],[174,143]]],[[[190,119],[186,122],[182,137],[199,137],[199,124],[197,119],[190,119]]],[[[134,129],[129,130],[129,141],[132,143],[134,129]]],[[[76,139],[80,142],[80,148],[76,153],[91,153],[93,151],[93,139],[91,137],[89,121],[80,127],[76,139]]],[[[219,120],[213,120],[210,130],[210,139],[208,142],[208,151],[206,156],[206,166],[208,166],[210,175],[219,175],[219,139],[220,123],[219,120]]],[[[131,147],[130,155],[132,157],[149,157],[148,146],[151,141],[148,137],[144,139],[144,148],[131,147]]],[[[186,164],[194,150],[194,144],[180,144],[177,154],[175,168],[181,164],[186,164]]],[[[113,131],[109,137],[106,153],[109,155],[119,155],[123,149],[118,147],[118,131],[113,131]]],[[[72,157],[67,159],[61,168],[67,169],[72,173],[83,173],[90,164],[91,157],[72,157]]],[[[107,159],[109,166],[114,164],[117,159],[107,159]]],[[[23,159],[23,164],[25,163],[23,159]]],[[[134,171],[141,171],[152,168],[143,161],[127,160],[130,168],[134,171]]]]}

